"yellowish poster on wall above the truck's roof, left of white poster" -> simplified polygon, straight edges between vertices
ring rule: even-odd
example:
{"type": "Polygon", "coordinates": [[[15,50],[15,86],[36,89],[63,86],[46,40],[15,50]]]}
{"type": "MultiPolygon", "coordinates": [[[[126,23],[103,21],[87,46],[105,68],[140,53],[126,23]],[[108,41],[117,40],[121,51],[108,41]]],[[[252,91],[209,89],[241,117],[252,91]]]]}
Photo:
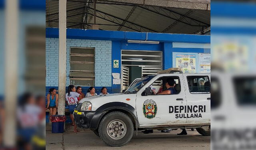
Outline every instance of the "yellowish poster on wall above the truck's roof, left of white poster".
{"type": "Polygon", "coordinates": [[[176,54],[176,67],[183,73],[196,73],[196,55],[194,54],[176,54]]]}

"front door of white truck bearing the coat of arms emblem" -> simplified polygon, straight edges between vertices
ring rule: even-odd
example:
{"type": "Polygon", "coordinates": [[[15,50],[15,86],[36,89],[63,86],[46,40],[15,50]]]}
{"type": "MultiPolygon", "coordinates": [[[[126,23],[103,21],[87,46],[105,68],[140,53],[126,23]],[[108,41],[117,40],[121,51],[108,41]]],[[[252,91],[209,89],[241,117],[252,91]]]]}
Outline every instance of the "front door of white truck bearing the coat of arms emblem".
{"type": "MultiPolygon", "coordinates": [[[[159,89],[159,88],[154,88],[159,89]]],[[[155,91],[156,93],[158,91],[155,91]]],[[[140,126],[148,126],[146,124],[152,124],[152,126],[170,125],[186,123],[186,113],[184,113],[184,107],[186,106],[186,96],[184,92],[184,80],[182,74],[174,74],[168,76],[156,76],[151,79],[140,91],[137,93],[136,98],[136,111],[140,126]],[[172,95],[147,95],[142,96],[146,87],[151,85],[156,86],[156,83],[160,83],[165,88],[167,79],[174,79],[176,82],[177,93],[172,95]],[[181,117],[179,117],[179,115],[181,117]]]]}

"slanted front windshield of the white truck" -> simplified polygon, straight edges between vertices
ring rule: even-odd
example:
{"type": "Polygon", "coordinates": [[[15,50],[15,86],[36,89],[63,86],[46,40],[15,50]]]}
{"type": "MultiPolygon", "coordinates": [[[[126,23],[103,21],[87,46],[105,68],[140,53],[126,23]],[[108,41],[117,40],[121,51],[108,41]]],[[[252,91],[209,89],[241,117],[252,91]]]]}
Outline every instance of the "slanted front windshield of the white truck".
{"type": "Polygon", "coordinates": [[[134,82],[124,93],[137,93],[148,81],[150,81],[156,75],[148,75],[136,82],[134,82]]]}

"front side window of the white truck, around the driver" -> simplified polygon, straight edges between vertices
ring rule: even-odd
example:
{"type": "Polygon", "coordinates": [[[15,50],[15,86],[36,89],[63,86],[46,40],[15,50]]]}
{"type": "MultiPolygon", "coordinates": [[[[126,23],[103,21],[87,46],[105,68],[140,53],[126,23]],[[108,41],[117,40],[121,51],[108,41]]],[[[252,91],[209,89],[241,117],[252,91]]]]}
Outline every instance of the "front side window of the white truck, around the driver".
{"type": "Polygon", "coordinates": [[[152,85],[150,85],[152,87],[152,90],[155,91],[156,93],[160,93],[164,90],[167,90],[165,87],[165,83],[167,81],[167,79],[173,79],[176,83],[176,85],[174,86],[174,89],[176,90],[176,94],[180,93],[180,79],[178,76],[168,76],[168,77],[160,77],[158,78],[156,81],[154,81],[154,83],[152,83],[152,85]]]}

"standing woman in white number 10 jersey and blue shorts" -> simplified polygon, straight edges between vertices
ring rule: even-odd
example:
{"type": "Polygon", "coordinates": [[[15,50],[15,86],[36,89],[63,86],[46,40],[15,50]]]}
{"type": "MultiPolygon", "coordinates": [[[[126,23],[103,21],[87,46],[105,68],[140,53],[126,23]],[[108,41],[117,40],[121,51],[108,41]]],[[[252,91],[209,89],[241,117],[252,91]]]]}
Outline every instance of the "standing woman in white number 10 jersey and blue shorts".
{"type": "Polygon", "coordinates": [[[74,122],[74,109],[76,108],[76,104],[78,102],[78,97],[79,99],[82,99],[82,95],[79,93],[76,93],[76,87],[74,85],[69,85],[68,86],[68,93],[66,93],[66,104],[68,105],[68,109],[70,112],[70,118],[72,120],[72,126],[74,126],[74,132],[78,132],[76,129],[76,124],[74,122]]]}

